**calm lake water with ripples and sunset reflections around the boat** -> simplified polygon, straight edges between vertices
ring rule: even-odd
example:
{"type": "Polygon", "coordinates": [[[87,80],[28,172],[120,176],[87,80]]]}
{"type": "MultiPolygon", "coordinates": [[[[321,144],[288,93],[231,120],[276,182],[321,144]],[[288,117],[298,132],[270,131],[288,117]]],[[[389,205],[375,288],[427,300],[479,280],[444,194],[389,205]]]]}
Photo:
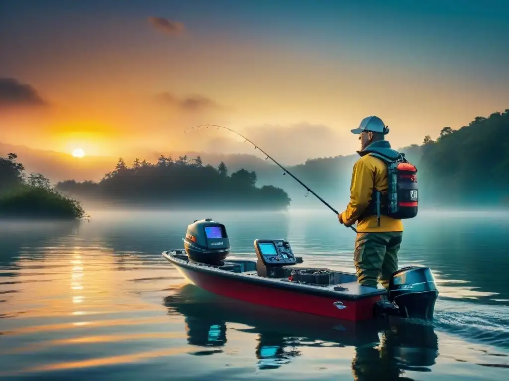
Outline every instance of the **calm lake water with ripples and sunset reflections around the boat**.
{"type": "Polygon", "coordinates": [[[0,222],[2,379],[509,379],[509,215],[420,212],[399,266],[439,285],[433,327],[355,326],[186,285],[161,251],[225,224],[232,256],[288,238],[310,267],[354,271],[355,234],[327,211],[93,212],[0,222]]]}

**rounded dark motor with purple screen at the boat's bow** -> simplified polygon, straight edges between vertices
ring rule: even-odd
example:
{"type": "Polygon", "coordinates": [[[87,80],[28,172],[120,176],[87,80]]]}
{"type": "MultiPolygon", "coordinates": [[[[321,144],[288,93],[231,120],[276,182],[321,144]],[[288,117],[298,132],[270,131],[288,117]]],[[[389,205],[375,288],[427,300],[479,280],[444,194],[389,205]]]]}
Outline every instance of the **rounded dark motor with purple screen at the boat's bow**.
{"type": "Polygon", "coordinates": [[[183,241],[187,256],[193,262],[219,266],[230,253],[226,228],[211,218],[195,220],[187,227],[183,241]]]}

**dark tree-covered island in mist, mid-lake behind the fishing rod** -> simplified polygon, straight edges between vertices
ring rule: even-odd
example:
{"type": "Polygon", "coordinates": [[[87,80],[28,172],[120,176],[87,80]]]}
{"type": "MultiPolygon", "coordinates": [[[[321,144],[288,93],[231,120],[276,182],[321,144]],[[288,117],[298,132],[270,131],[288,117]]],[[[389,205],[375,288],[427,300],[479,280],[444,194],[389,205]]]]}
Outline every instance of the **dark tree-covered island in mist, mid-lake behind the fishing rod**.
{"type": "Polygon", "coordinates": [[[156,163],[138,158],[128,166],[120,158],[115,169],[99,182],[60,181],[56,189],[80,199],[102,200],[122,205],[172,207],[286,209],[288,194],[281,188],[256,186],[257,174],[240,169],[228,174],[221,162],[216,168],[202,158],[189,160],[161,155],[156,163]]]}

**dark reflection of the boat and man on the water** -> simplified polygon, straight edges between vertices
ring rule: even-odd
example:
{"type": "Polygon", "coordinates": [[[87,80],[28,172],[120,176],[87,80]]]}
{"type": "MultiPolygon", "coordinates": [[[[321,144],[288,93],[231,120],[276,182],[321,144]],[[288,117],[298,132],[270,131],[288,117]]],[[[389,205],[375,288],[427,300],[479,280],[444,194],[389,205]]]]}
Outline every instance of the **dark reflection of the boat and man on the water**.
{"type": "Polygon", "coordinates": [[[227,324],[250,327],[235,331],[259,335],[259,369],[291,363],[303,347],[353,346],[354,379],[379,380],[384,375],[384,379],[411,380],[403,376],[404,370],[431,371],[438,356],[438,338],[431,325],[338,321],[224,298],[191,284],[164,297],[163,304],[168,314],[185,316],[188,343],[207,348],[194,355],[221,353],[227,324]]]}

